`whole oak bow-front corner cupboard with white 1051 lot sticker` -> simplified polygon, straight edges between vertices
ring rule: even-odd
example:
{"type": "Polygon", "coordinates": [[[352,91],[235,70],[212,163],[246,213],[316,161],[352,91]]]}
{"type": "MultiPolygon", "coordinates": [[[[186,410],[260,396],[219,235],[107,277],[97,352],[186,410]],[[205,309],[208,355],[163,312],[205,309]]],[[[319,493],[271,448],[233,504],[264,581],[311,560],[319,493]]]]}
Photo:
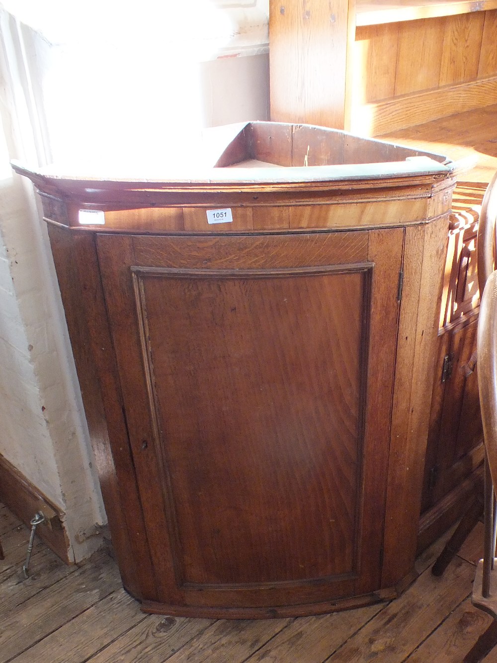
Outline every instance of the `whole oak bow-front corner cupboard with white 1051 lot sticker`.
{"type": "Polygon", "coordinates": [[[123,583],[172,615],[392,597],[414,577],[451,164],[279,123],[208,131],[191,161],[14,164],[123,583]]]}

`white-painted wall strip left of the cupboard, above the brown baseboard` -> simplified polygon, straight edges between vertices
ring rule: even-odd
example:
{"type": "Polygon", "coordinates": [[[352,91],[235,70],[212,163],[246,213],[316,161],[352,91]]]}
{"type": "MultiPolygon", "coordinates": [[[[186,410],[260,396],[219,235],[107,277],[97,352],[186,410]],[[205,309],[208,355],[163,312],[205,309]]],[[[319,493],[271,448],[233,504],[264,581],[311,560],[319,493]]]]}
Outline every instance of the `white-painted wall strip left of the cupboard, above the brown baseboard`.
{"type": "MultiPolygon", "coordinates": [[[[5,37],[9,17],[0,13],[5,37]],[[7,24],[6,24],[7,21],[7,24]]],[[[13,174],[9,158],[34,154],[30,132],[21,140],[23,95],[14,98],[3,39],[0,56],[0,453],[64,512],[79,561],[95,549],[82,540],[105,520],[74,363],[64,326],[46,227],[34,192],[13,174]]],[[[12,54],[11,54],[12,55],[12,54]]]]}

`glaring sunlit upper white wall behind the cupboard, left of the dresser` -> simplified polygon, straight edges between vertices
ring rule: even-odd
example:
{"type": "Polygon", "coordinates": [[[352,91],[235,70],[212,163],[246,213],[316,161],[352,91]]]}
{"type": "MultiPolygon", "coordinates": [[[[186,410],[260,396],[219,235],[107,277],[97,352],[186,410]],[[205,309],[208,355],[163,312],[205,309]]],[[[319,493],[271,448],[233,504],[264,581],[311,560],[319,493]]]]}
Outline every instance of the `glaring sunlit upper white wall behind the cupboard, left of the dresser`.
{"type": "Polygon", "coordinates": [[[183,134],[268,118],[268,0],[14,4],[29,21],[21,34],[48,162],[146,162],[159,145],[172,158],[183,134]]]}

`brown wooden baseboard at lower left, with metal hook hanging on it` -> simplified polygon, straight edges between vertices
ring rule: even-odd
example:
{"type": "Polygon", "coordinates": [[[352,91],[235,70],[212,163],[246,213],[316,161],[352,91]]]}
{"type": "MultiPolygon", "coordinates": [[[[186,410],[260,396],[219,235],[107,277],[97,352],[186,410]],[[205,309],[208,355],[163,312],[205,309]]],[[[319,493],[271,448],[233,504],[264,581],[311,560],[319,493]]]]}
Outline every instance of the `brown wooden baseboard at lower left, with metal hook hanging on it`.
{"type": "Polygon", "coordinates": [[[0,502],[3,502],[28,527],[34,514],[41,511],[47,522],[36,528],[36,536],[39,536],[63,562],[73,563],[68,554],[69,540],[63,524],[64,512],[1,454],[0,502]]]}

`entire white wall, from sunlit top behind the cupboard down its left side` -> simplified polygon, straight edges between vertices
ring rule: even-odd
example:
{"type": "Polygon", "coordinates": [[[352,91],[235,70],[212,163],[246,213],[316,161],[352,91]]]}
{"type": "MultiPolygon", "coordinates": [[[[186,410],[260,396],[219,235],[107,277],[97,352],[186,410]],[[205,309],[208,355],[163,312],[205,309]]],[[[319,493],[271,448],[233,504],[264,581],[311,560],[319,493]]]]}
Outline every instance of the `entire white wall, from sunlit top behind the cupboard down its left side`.
{"type": "Polygon", "coordinates": [[[2,6],[0,453],[66,512],[80,560],[105,512],[46,228],[8,158],[170,160],[184,131],[267,119],[268,0],[2,6]]]}

